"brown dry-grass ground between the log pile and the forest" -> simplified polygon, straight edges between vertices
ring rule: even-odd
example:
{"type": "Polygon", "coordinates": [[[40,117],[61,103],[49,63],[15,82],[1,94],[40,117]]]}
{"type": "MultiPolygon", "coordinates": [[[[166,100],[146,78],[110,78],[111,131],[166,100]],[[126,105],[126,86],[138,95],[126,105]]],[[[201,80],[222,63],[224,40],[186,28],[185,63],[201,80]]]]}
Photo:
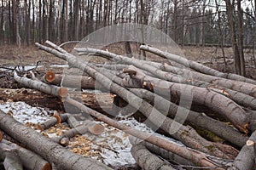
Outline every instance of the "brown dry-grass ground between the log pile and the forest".
{"type": "MultiPolygon", "coordinates": [[[[72,52],[76,44],[67,45],[65,48],[68,52],[72,52]]],[[[131,45],[132,52],[138,53],[135,45],[131,45]]],[[[125,54],[125,46],[122,43],[114,44],[108,47],[108,51],[116,54],[125,54]]],[[[225,58],[227,66],[224,65],[224,58],[220,48],[215,47],[180,47],[180,51],[187,59],[195,60],[204,65],[212,67],[218,71],[233,72],[233,54],[232,48],[225,48],[225,58]]],[[[154,59],[155,56],[147,53],[148,59],[154,59]]],[[[245,49],[247,77],[256,79],[256,62],[252,54],[252,50],[245,49]]],[[[66,62],[58,59],[55,56],[39,50],[35,46],[21,46],[20,48],[14,45],[0,46],[0,66],[9,67],[16,65],[63,65],[66,62]]]]}

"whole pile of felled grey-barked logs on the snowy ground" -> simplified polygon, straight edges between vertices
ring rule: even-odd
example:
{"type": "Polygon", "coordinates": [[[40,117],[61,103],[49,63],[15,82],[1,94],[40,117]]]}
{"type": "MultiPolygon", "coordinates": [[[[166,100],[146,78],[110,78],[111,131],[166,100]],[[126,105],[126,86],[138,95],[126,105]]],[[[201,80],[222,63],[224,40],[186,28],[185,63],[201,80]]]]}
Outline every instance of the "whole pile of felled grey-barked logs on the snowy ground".
{"type": "MultiPolygon", "coordinates": [[[[2,100],[21,100],[22,94],[29,94],[38,103],[47,98],[48,103],[42,102],[45,106],[62,111],[65,105],[72,106],[86,120],[78,122],[70,114],[55,113],[37,128],[43,131],[61,122],[67,122],[72,128],[59,137],[48,139],[0,110],[0,130],[21,144],[3,139],[4,134],[0,131],[0,160],[5,168],[25,167],[27,160],[23,158],[26,156],[35,157],[36,162],[32,163],[35,161],[32,160],[30,164],[39,166],[36,169],[110,168],[63,148],[76,134],[102,133],[104,128],[95,120],[131,135],[131,154],[143,169],[249,170],[255,167],[256,81],[222,73],[146,45],[142,45],[141,50],[167,59],[166,62],[129,58],[95,48],[75,48],[79,55],[96,54],[121,62],[122,65],[118,66],[121,69],[115,69],[117,67],[111,62],[104,65],[85,62],[52,42],[46,43],[49,47],[39,43],[36,46],[66,60],[70,67],[83,71],[84,76],[49,71],[43,77],[30,78],[15,72],[15,81],[32,89],[22,89],[21,95],[16,97],[11,90],[0,89],[7,94],[2,100]],[[168,60],[179,65],[168,65],[168,60]],[[73,88],[75,90],[70,90],[73,88]],[[111,94],[94,97],[82,92],[82,88],[111,94]],[[119,105],[125,105],[128,111],[123,111],[118,105],[113,107],[113,104],[120,103],[116,98],[124,100],[119,105]],[[145,120],[144,123],[155,133],[142,133],[116,121],[115,116],[119,114],[145,120]],[[162,138],[159,133],[182,144],[162,138]],[[9,167],[9,164],[14,167],[9,167]]],[[[29,98],[22,99],[31,102],[29,98]]]]}

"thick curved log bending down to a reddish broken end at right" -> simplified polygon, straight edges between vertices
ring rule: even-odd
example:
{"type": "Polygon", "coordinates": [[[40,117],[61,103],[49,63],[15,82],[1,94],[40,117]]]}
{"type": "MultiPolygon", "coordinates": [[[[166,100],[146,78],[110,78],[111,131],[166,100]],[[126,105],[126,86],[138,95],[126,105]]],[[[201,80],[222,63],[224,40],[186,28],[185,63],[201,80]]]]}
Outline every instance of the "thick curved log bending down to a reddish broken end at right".
{"type": "MultiPolygon", "coordinates": [[[[193,101],[197,104],[206,105],[212,111],[216,111],[232,122],[232,124],[243,133],[248,133],[247,127],[249,119],[246,111],[240,105],[237,105],[233,100],[226,98],[224,95],[207,90],[207,88],[198,88],[186,84],[167,82],[158,78],[149,77],[143,72],[137,71],[136,76],[132,78],[141,80],[142,87],[154,88],[156,94],[160,96],[166,95],[192,95],[193,101]]],[[[130,80],[131,81],[131,80],[130,80]]]]}

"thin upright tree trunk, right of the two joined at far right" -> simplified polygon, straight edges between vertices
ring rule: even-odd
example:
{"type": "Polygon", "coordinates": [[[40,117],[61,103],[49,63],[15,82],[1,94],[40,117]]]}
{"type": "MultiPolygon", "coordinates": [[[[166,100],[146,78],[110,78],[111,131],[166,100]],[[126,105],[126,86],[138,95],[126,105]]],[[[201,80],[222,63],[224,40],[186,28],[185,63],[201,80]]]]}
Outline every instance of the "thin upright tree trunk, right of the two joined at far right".
{"type": "Polygon", "coordinates": [[[242,9],[241,9],[241,0],[237,0],[237,11],[238,11],[238,50],[240,57],[240,70],[241,76],[246,75],[245,70],[245,59],[243,54],[243,19],[242,19],[242,9]]]}

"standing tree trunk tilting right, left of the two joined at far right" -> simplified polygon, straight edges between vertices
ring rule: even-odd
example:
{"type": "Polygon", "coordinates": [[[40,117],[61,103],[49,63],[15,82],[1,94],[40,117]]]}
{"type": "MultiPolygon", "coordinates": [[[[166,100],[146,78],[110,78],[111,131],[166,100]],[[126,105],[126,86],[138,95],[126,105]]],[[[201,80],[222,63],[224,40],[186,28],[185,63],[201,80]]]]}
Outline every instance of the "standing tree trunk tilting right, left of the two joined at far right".
{"type": "Polygon", "coordinates": [[[226,13],[228,15],[228,21],[230,25],[230,37],[232,42],[232,48],[234,53],[234,66],[235,66],[235,72],[238,75],[241,75],[241,58],[239,53],[238,44],[236,41],[236,24],[234,20],[234,11],[235,11],[235,0],[225,0],[226,3],[226,13]]]}

